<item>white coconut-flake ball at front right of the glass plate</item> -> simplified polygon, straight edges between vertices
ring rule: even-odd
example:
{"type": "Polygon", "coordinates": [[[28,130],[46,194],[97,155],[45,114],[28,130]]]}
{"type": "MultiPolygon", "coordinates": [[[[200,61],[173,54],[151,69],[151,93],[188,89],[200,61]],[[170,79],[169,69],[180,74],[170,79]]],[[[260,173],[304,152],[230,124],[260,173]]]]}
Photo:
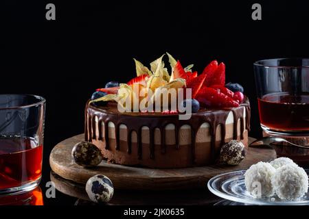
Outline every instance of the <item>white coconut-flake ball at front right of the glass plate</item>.
{"type": "Polygon", "coordinates": [[[271,183],[280,199],[295,201],[308,192],[308,175],[304,168],[286,164],[275,171],[271,183]]]}

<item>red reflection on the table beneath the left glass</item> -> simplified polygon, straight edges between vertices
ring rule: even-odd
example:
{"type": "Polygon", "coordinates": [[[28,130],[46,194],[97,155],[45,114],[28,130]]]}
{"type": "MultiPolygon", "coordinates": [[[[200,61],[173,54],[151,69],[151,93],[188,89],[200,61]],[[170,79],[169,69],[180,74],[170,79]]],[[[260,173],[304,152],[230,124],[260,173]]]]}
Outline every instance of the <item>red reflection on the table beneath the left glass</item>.
{"type": "Polygon", "coordinates": [[[43,205],[43,193],[37,187],[22,194],[0,196],[0,205],[43,205]]]}

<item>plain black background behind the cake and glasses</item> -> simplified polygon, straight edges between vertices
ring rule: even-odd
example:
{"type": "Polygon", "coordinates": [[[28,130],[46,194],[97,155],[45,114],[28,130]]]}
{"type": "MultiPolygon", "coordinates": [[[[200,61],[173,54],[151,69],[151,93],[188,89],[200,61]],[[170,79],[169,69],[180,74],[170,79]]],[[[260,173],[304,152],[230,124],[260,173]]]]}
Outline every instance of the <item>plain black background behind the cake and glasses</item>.
{"type": "MultiPolygon", "coordinates": [[[[168,51],[199,73],[225,62],[252,106],[260,136],[253,62],[308,57],[308,1],[16,1],[0,5],[1,93],[45,96],[44,168],[52,147],[84,129],[84,104],[95,88],[135,76],[133,57],[150,63],[168,51]],[[56,21],[45,5],[56,5],[56,21]],[[251,5],[262,5],[253,21],[251,5]]],[[[44,189],[44,188],[43,188],[44,189]]]]}

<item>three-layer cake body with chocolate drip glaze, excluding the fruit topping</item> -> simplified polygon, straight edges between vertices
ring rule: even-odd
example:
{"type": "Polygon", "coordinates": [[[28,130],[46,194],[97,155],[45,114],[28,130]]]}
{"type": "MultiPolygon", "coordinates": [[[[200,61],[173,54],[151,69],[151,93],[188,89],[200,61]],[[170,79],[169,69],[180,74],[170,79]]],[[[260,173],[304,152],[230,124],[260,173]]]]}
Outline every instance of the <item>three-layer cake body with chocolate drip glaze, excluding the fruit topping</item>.
{"type": "Polygon", "coordinates": [[[249,122],[249,99],[229,110],[200,110],[190,120],[157,113],[121,114],[117,105],[95,107],[87,103],[85,140],[93,142],[115,164],[203,166],[214,164],[220,146],[229,140],[242,140],[247,146],[249,122]]]}

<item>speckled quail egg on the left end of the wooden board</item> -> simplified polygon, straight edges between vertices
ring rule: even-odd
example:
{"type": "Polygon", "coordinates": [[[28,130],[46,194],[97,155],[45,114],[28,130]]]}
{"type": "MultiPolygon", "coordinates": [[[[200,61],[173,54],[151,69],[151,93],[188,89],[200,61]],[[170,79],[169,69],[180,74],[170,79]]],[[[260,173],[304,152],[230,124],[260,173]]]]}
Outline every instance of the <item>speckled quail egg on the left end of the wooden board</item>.
{"type": "Polygon", "coordinates": [[[102,153],[91,142],[79,142],[72,149],[72,157],[76,164],[84,167],[97,166],[102,162],[102,153]]]}

